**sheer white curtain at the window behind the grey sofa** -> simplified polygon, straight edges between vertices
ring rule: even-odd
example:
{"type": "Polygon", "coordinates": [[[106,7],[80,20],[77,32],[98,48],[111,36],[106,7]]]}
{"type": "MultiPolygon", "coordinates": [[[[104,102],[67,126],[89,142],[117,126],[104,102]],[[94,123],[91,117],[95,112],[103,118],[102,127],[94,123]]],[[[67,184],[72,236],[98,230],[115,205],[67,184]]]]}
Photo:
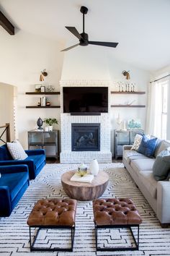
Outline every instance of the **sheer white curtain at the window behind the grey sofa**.
{"type": "Polygon", "coordinates": [[[146,116],[146,133],[161,137],[162,89],[161,82],[148,85],[148,109],[146,116]]]}

